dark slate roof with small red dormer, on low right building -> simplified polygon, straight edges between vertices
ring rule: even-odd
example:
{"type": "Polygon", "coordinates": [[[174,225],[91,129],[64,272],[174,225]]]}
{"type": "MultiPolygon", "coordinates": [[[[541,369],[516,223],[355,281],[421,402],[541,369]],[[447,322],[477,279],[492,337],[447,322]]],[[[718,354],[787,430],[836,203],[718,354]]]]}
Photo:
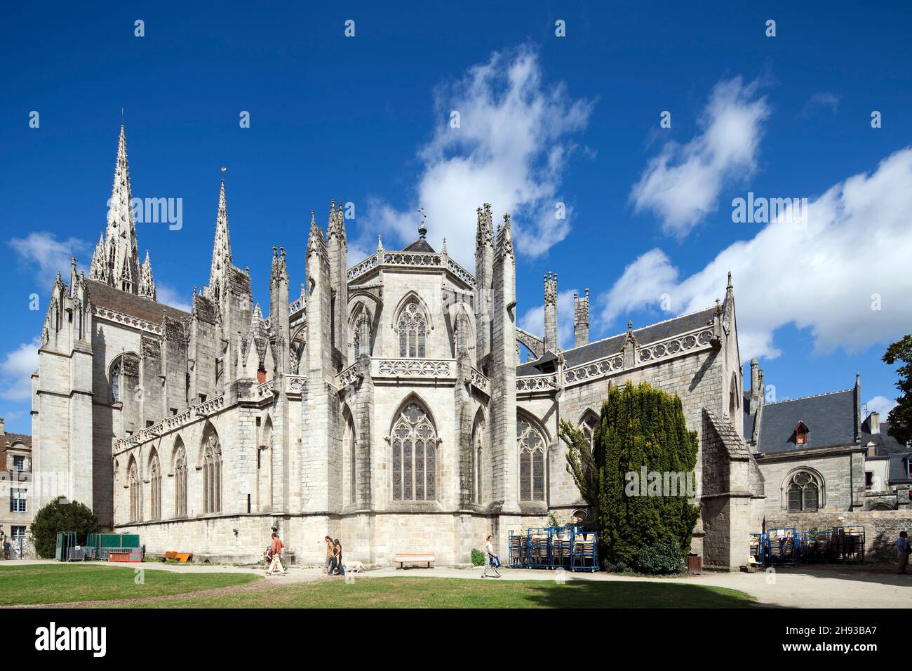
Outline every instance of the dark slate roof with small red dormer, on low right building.
{"type": "Polygon", "coordinates": [[[770,454],[857,445],[855,407],[854,388],[764,404],[757,451],[770,454]],[[799,422],[808,427],[803,446],[795,445],[794,428],[799,422]]]}

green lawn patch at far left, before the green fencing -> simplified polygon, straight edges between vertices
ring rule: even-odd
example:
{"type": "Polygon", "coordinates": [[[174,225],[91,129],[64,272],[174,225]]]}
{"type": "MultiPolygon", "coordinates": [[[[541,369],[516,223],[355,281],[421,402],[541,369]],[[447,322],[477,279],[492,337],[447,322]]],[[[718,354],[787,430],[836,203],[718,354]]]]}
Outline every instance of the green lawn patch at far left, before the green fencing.
{"type": "Polygon", "coordinates": [[[245,573],[175,573],[148,568],[90,564],[0,565],[0,606],[28,603],[67,603],[137,599],[229,587],[259,580],[245,573]],[[135,568],[145,569],[137,584],[135,568]]]}

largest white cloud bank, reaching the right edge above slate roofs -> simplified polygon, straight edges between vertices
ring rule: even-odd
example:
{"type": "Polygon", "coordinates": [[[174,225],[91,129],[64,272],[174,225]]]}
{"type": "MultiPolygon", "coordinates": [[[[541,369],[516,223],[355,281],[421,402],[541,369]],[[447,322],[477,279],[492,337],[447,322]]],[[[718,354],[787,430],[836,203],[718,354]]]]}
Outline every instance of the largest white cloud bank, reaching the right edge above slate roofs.
{"type": "Polygon", "coordinates": [[[688,278],[679,278],[668,257],[653,249],[598,297],[601,320],[656,305],[663,291],[675,313],[710,306],[731,270],[744,359],[778,355],[773,334],[787,324],[808,330],[817,352],[895,340],[908,331],[912,314],[909,184],[912,148],[810,201],[805,225],[777,219],[688,278]]]}

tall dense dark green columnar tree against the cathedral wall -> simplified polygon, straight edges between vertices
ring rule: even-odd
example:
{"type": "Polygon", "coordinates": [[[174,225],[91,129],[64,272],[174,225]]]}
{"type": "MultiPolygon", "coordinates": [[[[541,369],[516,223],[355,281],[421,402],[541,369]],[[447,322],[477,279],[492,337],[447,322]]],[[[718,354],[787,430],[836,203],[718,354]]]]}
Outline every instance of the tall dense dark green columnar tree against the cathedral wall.
{"type": "MultiPolygon", "coordinates": [[[[628,474],[684,473],[694,477],[697,433],[688,431],[684,408],[671,396],[648,383],[613,387],[602,404],[602,414],[590,450],[586,436],[562,423],[559,435],[568,447],[567,471],[586,501],[595,508],[596,526],[606,561],[635,566],[641,549],[670,543],[681,554],[700,507],[679,496],[633,496],[625,492],[628,474]]],[[[645,487],[645,485],[644,485],[645,487]]]]}

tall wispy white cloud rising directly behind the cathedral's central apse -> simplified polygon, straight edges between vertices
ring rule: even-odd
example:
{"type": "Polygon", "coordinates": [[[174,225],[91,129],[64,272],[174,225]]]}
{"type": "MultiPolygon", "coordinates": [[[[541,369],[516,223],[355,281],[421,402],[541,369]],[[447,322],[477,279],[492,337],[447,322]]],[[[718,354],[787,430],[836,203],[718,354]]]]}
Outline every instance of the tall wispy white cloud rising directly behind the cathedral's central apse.
{"type": "MultiPolygon", "coordinates": [[[[452,257],[472,267],[475,208],[491,203],[498,225],[513,215],[513,236],[528,256],[544,254],[570,231],[572,197],[561,191],[562,176],[575,144],[569,136],[586,128],[593,102],[575,100],[563,82],[546,82],[531,48],[494,52],[462,79],[434,92],[438,125],[420,148],[422,173],[415,205],[399,210],[382,201],[368,203],[364,237],[355,246],[376,248],[376,235],[416,236],[418,204],[428,215],[431,245],[447,236],[452,257]],[[460,127],[451,128],[451,111],[460,127]],[[555,216],[555,204],[566,216],[555,216]],[[369,239],[368,239],[369,238],[369,239]]],[[[385,246],[391,245],[384,241],[385,246]]]]}

